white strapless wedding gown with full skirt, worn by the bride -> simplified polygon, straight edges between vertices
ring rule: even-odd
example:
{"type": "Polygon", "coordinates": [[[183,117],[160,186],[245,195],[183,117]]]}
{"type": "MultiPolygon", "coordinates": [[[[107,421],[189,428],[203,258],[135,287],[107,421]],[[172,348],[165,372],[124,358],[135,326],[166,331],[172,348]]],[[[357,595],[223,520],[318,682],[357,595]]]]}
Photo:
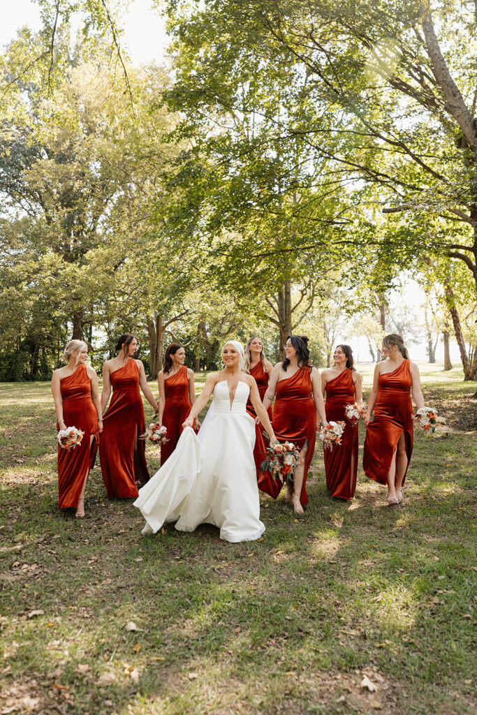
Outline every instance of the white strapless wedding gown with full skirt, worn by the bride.
{"type": "Polygon", "coordinates": [[[240,380],[230,405],[227,380],[215,385],[199,435],[185,428],[167,462],[139,489],[134,506],[147,522],[142,533],[155,533],[164,522],[177,521],[179,531],[214,524],[226,541],[262,536],[253,459],[255,423],[245,409],[249,393],[240,380]]]}

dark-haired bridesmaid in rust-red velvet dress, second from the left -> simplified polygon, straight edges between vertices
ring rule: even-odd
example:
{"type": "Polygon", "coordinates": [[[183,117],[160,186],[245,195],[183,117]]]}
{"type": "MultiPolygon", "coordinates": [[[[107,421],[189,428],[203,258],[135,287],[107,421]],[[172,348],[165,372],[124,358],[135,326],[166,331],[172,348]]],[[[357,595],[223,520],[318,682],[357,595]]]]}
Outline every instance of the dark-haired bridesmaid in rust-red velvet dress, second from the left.
{"type": "Polygon", "coordinates": [[[109,498],[137,497],[136,481],[144,485],[149,480],[146,445],[139,435],[146,429],[142,389],[157,413],[159,407],[147,385],[141,360],[134,360],[137,340],[134,335],[121,335],[115,350],[117,358],[103,365],[101,408],[104,411],[111,388],[112,400],[104,413],[104,433],[99,445],[104,485],[109,498]]]}

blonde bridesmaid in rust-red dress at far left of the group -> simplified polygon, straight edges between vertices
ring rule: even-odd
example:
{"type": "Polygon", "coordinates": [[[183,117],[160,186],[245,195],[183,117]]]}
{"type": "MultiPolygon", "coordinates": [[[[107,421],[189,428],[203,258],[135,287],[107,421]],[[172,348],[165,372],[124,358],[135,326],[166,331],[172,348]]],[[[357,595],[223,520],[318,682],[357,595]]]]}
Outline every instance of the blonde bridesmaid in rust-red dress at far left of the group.
{"type": "Polygon", "coordinates": [[[84,516],[84,487],[96,458],[102,431],[98,378],[86,365],[88,346],[82,340],[70,340],[64,348],[64,368],[51,378],[56,428],[77,427],[84,432],[82,443],[72,450],[58,445],[58,507],[73,507],[74,516],[84,516]],[[93,444],[94,442],[94,444],[93,444]]]}

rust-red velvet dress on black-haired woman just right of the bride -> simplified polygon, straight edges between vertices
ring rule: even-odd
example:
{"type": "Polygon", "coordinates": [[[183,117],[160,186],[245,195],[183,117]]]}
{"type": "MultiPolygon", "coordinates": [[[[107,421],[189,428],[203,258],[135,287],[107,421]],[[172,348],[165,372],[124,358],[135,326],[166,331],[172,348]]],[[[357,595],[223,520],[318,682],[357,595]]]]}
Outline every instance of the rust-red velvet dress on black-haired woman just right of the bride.
{"type": "MultiPolygon", "coordinates": [[[[316,407],[313,401],[311,368],[299,368],[291,378],[279,380],[273,405],[273,432],[279,442],[292,442],[300,450],[308,442],[308,452],[303,475],[300,502],[308,504],[306,478],[310,468],[316,441],[316,407]]],[[[282,483],[274,480],[270,473],[260,475],[258,487],[273,498],[277,498],[282,483]]]]}

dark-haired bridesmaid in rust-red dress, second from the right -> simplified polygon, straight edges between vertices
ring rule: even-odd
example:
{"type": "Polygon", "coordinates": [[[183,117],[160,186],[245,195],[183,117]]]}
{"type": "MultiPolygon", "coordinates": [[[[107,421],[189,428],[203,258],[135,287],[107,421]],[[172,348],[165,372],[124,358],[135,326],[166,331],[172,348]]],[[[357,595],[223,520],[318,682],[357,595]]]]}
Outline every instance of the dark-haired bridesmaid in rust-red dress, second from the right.
{"type": "Polygon", "coordinates": [[[352,499],[358,474],[358,423],[352,425],[345,415],[345,405],[362,403],[362,380],[353,365],[353,350],[349,345],[337,345],[334,365],[321,373],[321,390],[326,393],[325,411],[328,422],[342,420],[346,427],[341,444],[325,449],[326,485],[332,497],[352,499]]]}

